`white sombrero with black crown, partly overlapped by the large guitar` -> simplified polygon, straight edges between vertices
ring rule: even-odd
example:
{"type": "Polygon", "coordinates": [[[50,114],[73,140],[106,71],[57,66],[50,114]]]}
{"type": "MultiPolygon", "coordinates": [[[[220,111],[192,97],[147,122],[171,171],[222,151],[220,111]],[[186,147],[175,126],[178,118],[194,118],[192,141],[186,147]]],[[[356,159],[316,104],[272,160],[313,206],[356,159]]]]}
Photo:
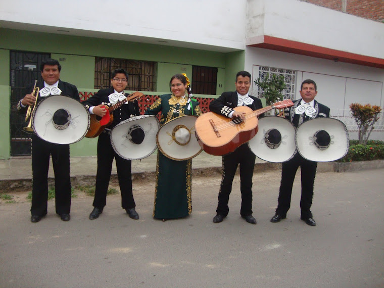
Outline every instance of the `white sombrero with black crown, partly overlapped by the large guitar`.
{"type": "Polygon", "coordinates": [[[267,116],[259,119],[259,132],[248,141],[251,151],[268,162],[284,162],[296,153],[295,126],[288,120],[267,116]]]}

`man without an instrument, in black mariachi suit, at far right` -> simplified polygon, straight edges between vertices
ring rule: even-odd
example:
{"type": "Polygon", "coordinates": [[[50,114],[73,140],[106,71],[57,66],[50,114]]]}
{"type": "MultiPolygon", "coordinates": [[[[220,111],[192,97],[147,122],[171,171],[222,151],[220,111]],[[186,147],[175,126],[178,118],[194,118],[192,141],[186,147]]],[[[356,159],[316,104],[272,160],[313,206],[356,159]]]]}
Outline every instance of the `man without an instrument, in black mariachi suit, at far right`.
{"type": "MultiPolygon", "coordinates": [[[[317,86],[315,81],[304,80],[300,87],[301,99],[295,101],[295,105],[285,109],[285,118],[298,127],[305,121],[314,118],[329,118],[329,108],[315,100],[317,86]]],[[[313,184],[316,176],[317,162],[303,158],[300,153],[289,161],[282,163],[281,184],[279,189],[276,214],[271,222],[279,222],[286,218],[286,213],[291,206],[292,187],[296,172],[301,167],[301,219],[310,226],[316,226],[310,210],[313,198],[313,184]]]]}

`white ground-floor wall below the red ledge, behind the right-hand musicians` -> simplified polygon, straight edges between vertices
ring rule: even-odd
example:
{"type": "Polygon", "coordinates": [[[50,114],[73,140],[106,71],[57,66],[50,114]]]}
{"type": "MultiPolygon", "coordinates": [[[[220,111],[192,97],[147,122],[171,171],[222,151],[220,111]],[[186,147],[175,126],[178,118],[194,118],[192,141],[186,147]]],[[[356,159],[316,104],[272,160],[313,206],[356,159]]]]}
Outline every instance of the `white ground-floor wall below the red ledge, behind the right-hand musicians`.
{"type": "MultiPolygon", "coordinates": [[[[378,105],[384,110],[384,69],[247,47],[245,70],[252,74],[253,95],[257,95],[253,81],[259,76],[258,66],[295,70],[295,99],[300,99],[301,82],[308,78],[314,80],[318,91],[315,99],[328,106],[331,117],[345,122],[349,130],[357,128],[350,117],[351,103],[378,105]]],[[[384,140],[383,116],[384,113],[375,125],[371,139],[384,140]]],[[[356,138],[357,133],[351,132],[350,136],[356,138]]]]}

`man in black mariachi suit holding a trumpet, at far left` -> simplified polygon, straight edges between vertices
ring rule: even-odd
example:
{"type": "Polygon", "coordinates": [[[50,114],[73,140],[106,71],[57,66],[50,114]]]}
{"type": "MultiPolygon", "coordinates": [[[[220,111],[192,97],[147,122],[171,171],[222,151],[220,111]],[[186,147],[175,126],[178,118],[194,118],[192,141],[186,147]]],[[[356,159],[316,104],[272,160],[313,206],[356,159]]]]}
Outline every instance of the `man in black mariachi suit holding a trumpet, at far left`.
{"type": "MultiPolygon", "coordinates": [[[[26,95],[17,105],[21,113],[25,113],[28,106],[33,107],[44,97],[51,94],[63,94],[80,102],[76,86],[61,81],[61,65],[55,59],[43,60],[40,65],[43,81],[37,82],[39,93],[33,95],[33,85],[26,88],[26,95]],[[37,97],[37,99],[35,98],[37,97]]],[[[64,107],[63,107],[64,108],[64,107]]],[[[32,117],[32,116],[31,116],[32,117]]],[[[50,155],[55,172],[55,204],[56,213],[61,220],[69,221],[71,212],[71,179],[69,171],[69,145],[47,142],[36,134],[31,135],[32,143],[32,207],[31,222],[38,222],[47,213],[48,200],[48,170],[50,155]]]]}

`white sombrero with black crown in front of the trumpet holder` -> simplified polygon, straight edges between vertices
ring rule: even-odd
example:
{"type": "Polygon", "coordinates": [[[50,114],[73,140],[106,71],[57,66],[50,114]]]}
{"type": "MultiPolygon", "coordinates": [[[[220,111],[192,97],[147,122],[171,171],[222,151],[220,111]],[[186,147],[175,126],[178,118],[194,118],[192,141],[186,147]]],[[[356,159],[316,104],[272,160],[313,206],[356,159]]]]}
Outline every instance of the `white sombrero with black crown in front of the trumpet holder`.
{"type": "Polygon", "coordinates": [[[32,128],[41,139],[71,144],[81,140],[89,128],[87,109],[72,97],[52,95],[43,98],[32,115],[32,128]]]}

